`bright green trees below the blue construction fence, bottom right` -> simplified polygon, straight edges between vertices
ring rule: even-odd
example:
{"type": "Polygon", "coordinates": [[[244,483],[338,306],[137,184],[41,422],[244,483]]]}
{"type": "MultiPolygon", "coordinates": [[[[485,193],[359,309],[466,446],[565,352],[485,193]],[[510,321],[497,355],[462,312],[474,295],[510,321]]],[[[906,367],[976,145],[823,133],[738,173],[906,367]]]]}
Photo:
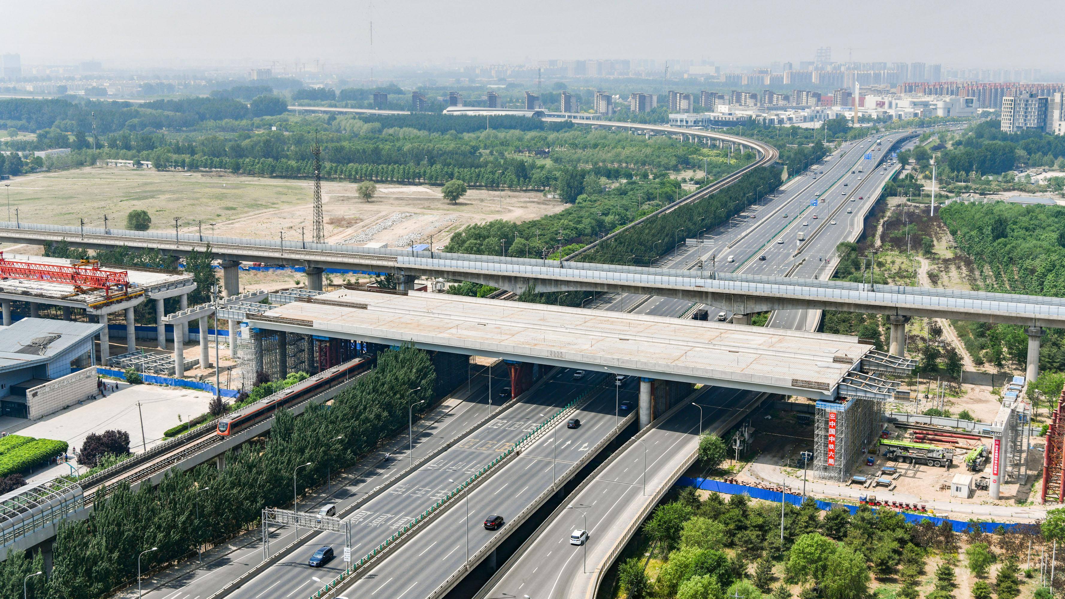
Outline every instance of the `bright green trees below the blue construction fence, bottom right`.
{"type": "Polygon", "coordinates": [[[630,598],[724,599],[738,592],[746,599],[763,594],[788,599],[790,586],[799,585],[803,599],[863,599],[874,577],[894,577],[902,582],[896,597],[917,599],[927,563],[939,553],[946,558],[927,597],[950,599],[957,588],[950,555],[964,540],[969,570],[981,579],[973,596],[989,599],[994,592],[999,599],[1014,599],[1020,585],[1017,555],[1030,540],[1036,547],[1044,541],[1036,527],[986,534],[973,524],[963,538],[949,522],[912,524],[897,512],[874,513],[865,505],[854,515],[845,507],[825,513],[812,499],[798,507],[784,505],[782,539],[781,517],[776,503],[755,503],[743,495],[725,501],[717,493],[703,501],[685,488],[643,527],[651,555],[666,560],[657,578],[649,580],[646,558],[637,556],[620,565],[619,583],[630,598]],[[992,585],[983,579],[996,561],[1004,565],[992,585]],[[775,564],[784,565],[782,571],[774,571],[775,564]]]}

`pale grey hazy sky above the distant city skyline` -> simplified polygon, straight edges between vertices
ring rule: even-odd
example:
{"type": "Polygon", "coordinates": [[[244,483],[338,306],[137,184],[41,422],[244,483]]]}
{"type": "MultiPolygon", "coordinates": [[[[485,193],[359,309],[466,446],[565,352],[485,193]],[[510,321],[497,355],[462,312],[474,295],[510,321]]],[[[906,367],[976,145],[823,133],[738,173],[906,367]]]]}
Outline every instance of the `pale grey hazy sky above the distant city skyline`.
{"type": "Polygon", "coordinates": [[[334,65],[707,59],[717,64],[833,59],[1062,71],[1052,1],[824,0],[6,0],[0,52],[23,64],[112,66],[271,61],[334,65]]]}

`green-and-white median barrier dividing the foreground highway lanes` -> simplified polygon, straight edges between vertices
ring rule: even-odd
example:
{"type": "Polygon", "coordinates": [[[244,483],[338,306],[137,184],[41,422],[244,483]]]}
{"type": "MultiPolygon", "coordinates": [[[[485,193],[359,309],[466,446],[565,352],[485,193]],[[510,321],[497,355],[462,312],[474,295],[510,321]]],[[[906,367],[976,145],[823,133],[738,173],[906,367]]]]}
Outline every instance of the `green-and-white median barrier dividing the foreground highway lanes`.
{"type": "Polygon", "coordinates": [[[413,520],[405,524],[388,539],[386,539],[377,547],[372,549],[370,552],[367,552],[357,563],[353,562],[351,566],[346,568],[337,578],[327,582],[325,586],[323,586],[313,595],[311,595],[310,596],[311,599],[329,599],[331,597],[331,593],[338,590],[345,581],[351,580],[353,576],[359,572],[359,570],[361,570],[364,566],[367,566],[371,563],[376,562],[378,558],[383,558],[387,553],[391,553],[392,549],[398,548],[398,546],[402,545],[402,543],[406,541],[406,538],[404,537],[406,537],[408,533],[414,530],[419,524],[426,523],[430,519],[433,519],[438,514],[442,514],[444,511],[450,507],[454,499],[459,497],[462,492],[472,490],[473,485],[479,484],[485,479],[487,479],[487,475],[490,474],[499,465],[507,463],[513,457],[518,456],[524,450],[524,447],[526,444],[534,442],[536,439],[538,439],[539,435],[545,432],[548,425],[551,425],[554,422],[557,422],[560,418],[564,418],[564,415],[568,414],[568,410],[570,410],[571,408],[573,408],[573,406],[584,401],[585,398],[587,398],[591,392],[593,391],[585,391],[576,399],[574,399],[570,403],[559,408],[558,411],[556,411],[545,421],[537,425],[536,428],[523,435],[522,438],[519,439],[518,442],[514,443],[512,448],[509,448],[507,451],[501,453],[498,456],[496,456],[495,459],[490,462],[487,466],[485,466],[477,472],[474,472],[473,475],[471,475],[469,479],[460,483],[459,486],[457,486],[454,490],[444,496],[443,499],[437,501],[437,503],[432,504],[427,509],[419,514],[416,517],[414,517],[413,520]]]}

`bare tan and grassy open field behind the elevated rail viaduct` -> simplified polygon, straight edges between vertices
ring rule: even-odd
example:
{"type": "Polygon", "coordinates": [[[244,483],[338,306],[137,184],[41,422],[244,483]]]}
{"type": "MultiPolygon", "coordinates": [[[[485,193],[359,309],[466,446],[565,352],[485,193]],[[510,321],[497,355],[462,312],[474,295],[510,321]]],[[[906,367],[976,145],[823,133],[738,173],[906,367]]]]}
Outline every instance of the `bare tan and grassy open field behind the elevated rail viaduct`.
{"type": "MultiPolygon", "coordinates": [[[[471,223],[495,218],[524,222],[562,210],[566,205],[538,192],[470,190],[458,205],[447,204],[439,188],[380,184],[366,203],[355,195],[357,183],[322,182],[326,237],[331,242],[390,247],[429,242],[443,245],[471,223]]],[[[148,169],[84,167],[17,177],[11,185],[12,208],[24,222],[55,225],[124,226],[130,210],[147,210],[154,229],[173,230],[174,217],[184,231],[233,237],[299,239],[311,234],[312,183],[228,173],[160,173],[148,169]],[[212,226],[213,225],[213,226],[212,226]]]]}

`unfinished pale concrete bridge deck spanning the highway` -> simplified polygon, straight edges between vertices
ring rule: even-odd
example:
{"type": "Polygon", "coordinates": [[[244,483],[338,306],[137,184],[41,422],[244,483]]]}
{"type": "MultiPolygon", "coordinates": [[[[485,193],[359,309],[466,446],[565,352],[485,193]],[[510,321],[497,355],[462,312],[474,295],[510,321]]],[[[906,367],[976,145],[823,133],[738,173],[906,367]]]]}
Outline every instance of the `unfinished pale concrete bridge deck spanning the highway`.
{"type": "Polygon", "coordinates": [[[344,289],[250,326],[833,400],[872,346],[855,337],[423,292],[344,289]]]}

